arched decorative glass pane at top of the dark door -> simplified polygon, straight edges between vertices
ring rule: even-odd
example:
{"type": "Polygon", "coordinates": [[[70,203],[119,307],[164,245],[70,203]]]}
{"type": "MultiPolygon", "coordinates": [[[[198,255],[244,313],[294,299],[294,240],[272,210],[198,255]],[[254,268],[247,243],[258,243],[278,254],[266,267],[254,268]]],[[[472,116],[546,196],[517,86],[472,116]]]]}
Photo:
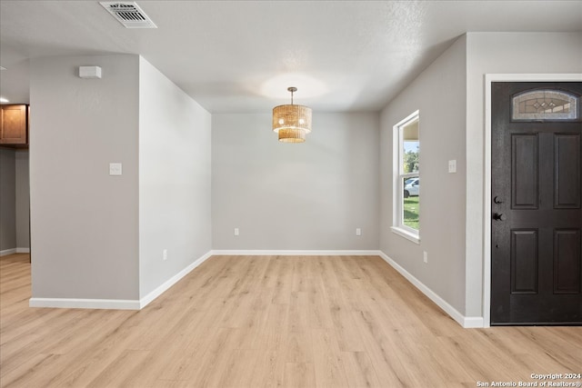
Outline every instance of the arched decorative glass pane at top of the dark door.
{"type": "Polygon", "coordinates": [[[515,121],[577,120],[579,97],[559,90],[538,89],[513,96],[515,121]]]}

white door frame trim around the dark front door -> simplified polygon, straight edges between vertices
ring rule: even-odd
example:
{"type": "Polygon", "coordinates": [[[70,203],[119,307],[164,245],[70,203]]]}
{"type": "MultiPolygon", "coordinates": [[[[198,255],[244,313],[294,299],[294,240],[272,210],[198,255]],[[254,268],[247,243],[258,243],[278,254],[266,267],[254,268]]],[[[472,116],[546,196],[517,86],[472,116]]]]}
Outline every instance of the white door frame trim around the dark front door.
{"type": "Polygon", "coordinates": [[[582,82],[582,74],[485,75],[485,177],[483,193],[483,327],[491,326],[491,85],[494,82],[582,82]]]}

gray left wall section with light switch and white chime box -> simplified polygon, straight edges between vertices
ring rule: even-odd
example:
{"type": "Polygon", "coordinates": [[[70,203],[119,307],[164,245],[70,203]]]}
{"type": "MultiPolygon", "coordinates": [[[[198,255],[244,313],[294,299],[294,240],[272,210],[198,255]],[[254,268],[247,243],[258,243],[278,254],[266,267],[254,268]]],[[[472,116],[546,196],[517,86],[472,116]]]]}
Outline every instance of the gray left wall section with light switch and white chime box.
{"type": "Polygon", "coordinates": [[[137,55],[35,59],[30,72],[33,298],[137,300],[137,55]],[[81,79],[97,65],[102,79],[81,79]],[[109,175],[109,164],[123,174],[109,175]]]}

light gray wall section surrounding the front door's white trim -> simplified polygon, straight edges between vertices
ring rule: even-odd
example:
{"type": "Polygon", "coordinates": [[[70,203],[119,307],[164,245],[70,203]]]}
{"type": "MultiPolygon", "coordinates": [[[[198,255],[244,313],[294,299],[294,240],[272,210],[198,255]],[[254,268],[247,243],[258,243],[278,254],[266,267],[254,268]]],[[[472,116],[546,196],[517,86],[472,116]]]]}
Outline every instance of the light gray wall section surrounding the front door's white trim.
{"type": "Polygon", "coordinates": [[[483,298],[485,75],[580,74],[582,33],[467,34],[467,315],[483,298]]]}

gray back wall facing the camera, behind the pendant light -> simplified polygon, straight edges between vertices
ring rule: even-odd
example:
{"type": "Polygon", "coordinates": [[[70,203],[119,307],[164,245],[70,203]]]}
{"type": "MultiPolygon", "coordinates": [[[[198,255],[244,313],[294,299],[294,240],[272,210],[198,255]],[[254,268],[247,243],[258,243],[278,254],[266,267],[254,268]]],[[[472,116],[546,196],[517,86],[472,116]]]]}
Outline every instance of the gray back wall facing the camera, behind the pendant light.
{"type": "Polygon", "coordinates": [[[304,144],[270,114],[213,114],[213,248],[378,249],[378,153],[378,114],[316,112],[304,144]]]}

